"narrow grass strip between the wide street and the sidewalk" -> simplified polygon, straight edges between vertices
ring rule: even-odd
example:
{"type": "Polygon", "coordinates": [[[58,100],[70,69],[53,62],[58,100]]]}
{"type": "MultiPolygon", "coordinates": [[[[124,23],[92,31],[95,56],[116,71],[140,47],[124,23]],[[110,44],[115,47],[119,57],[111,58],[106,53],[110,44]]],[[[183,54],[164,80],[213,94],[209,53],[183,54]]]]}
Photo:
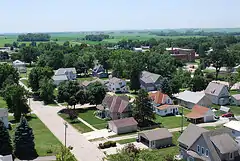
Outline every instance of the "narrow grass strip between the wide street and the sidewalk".
{"type": "Polygon", "coordinates": [[[71,124],[74,128],[76,128],[81,133],[92,131],[92,129],[90,129],[88,126],[86,126],[80,121],[73,122],[68,118],[66,114],[59,114],[59,116],[61,116],[65,121],[67,121],[69,124],[71,124]]]}

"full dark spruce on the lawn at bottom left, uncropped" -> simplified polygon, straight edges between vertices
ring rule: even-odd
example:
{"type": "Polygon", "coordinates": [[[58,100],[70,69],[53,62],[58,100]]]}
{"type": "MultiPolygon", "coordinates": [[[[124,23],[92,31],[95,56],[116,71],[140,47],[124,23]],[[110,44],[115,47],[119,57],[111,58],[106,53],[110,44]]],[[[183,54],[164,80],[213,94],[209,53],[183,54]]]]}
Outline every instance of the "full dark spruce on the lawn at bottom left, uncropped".
{"type": "Polygon", "coordinates": [[[15,131],[14,155],[20,160],[33,160],[38,157],[35,149],[33,130],[29,127],[25,117],[21,117],[15,131]]]}

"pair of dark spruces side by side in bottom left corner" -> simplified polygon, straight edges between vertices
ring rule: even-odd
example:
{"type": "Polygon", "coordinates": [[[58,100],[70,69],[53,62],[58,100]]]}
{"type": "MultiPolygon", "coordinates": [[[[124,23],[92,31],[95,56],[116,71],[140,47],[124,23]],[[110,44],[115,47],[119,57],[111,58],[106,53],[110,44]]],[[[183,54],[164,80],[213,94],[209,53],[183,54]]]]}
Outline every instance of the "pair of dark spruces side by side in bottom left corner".
{"type": "Polygon", "coordinates": [[[0,155],[13,154],[20,160],[33,160],[38,157],[33,131],[25,117],[21,118],[19,125],[16,127],[13,143],[12,146],[9,132],[0,120],[0,155]]]}

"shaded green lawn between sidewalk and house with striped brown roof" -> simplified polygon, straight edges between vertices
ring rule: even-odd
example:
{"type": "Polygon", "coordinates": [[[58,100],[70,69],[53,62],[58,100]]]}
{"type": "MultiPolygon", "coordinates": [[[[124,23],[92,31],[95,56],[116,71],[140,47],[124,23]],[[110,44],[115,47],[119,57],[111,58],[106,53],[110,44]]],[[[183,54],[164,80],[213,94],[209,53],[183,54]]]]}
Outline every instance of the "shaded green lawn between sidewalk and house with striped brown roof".
{"type": "Polygon", "coordinates": [[[78,109],[78,116],[97,129],[106,128],[107,121],[94,116],[96,108],[78,109]]]}

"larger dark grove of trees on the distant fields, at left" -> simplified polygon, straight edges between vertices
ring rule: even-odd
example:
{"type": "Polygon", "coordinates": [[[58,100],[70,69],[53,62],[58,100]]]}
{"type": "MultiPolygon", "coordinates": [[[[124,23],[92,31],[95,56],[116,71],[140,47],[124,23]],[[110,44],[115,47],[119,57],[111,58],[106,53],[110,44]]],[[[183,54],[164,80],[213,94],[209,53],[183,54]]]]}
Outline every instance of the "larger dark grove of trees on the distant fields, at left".
{"type": "Polygon", "coordinates": [[[51,36],[45,33],[27,33],[18,35],[17,41],[50,41],[51,36]]]}

